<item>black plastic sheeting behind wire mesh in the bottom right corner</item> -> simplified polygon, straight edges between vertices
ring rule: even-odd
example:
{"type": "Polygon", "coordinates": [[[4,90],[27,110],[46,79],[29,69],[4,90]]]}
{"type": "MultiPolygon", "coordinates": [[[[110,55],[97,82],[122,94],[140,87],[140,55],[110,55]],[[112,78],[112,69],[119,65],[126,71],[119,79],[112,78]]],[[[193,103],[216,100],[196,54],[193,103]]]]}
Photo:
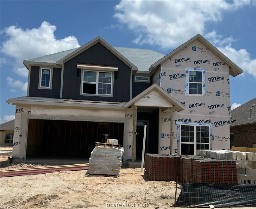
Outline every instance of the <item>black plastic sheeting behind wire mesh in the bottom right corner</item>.
{"type": "Polygon", "coordinates": [[[176,207],[256,207],[256,185],[196,184],[181,186],[176,207]]]}

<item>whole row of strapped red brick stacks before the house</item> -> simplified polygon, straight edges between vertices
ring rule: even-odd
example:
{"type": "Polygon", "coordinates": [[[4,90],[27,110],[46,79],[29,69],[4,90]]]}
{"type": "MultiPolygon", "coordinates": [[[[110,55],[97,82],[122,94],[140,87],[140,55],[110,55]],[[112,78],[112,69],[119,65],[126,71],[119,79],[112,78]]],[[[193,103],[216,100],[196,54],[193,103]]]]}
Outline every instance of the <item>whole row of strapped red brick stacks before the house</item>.
{"type": "Polygon", "coordinates": [[[155,181],[237,184],[236,162],[193,157],[146,154],[145,176],[155,181]]]}

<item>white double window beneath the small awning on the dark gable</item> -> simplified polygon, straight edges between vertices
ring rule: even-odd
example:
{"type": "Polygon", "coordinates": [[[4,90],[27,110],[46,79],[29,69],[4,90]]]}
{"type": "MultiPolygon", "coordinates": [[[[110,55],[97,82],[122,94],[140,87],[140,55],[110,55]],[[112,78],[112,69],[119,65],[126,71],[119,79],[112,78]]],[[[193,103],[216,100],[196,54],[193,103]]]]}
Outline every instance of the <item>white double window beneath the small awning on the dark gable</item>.
{"type": "Polygon", "coordinates": [[[112,95],[113,72],[82,70],[81,95],[112,95]]]}

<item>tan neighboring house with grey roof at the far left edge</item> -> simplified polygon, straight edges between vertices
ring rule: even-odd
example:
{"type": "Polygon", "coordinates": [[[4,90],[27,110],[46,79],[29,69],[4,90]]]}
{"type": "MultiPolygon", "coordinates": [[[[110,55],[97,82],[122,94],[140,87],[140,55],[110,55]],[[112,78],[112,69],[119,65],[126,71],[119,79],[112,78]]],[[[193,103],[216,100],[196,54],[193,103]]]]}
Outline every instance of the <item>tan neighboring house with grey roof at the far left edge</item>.
{"type": "Polygon", "coordinates": [[[1,147],[12,147],[13,146],[13,132],[14,132],[14,120],[2,123],[0,125],[1,133],[1,147]]]}

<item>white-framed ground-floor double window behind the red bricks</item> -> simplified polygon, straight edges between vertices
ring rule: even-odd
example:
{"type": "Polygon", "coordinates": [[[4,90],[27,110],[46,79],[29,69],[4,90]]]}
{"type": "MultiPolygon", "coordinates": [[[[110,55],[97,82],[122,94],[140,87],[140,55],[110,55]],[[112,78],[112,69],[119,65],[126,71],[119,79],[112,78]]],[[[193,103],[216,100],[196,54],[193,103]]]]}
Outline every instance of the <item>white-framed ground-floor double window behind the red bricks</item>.
{"type": "Polygon", "coordinates": [[[210,125],[180,124],[180,154],[196,155],[196,150],[210,150],[210,125]]]}

